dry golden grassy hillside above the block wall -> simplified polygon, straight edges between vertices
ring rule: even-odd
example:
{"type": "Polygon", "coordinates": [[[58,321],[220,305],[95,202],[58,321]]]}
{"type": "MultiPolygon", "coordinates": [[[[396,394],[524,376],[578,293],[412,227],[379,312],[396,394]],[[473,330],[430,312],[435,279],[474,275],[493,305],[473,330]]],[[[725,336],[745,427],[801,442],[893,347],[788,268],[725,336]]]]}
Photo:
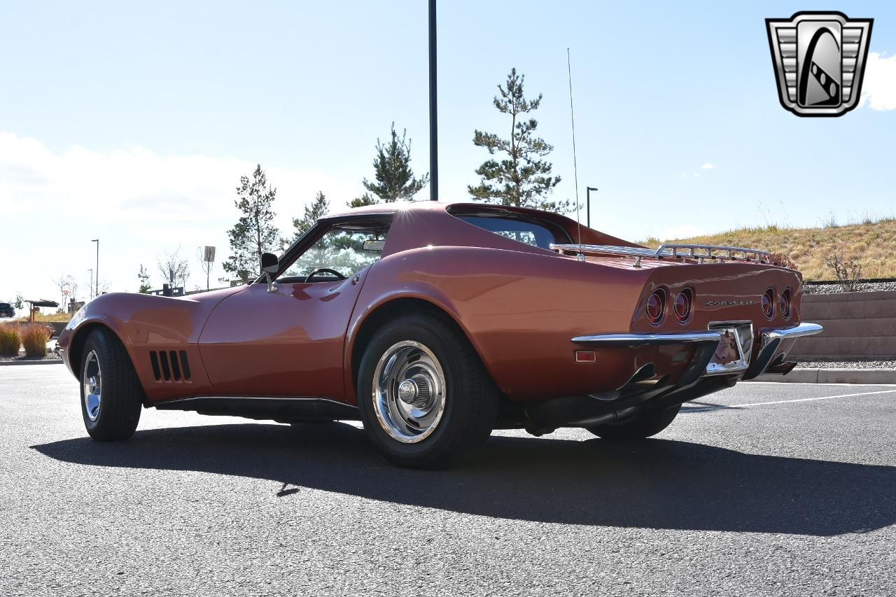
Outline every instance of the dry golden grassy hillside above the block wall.
{"type": "MultiPolygon", "coordinates": [[[[862,266],[863,278],[896,278],[896,219],[824,228],[745,228],[666,242],[762,248],[788,255],[806,280],[833,280],[824,258],[840,251],[862,266]]],[[[659,247],[657,238],[642,245],[659,247]]]]}

